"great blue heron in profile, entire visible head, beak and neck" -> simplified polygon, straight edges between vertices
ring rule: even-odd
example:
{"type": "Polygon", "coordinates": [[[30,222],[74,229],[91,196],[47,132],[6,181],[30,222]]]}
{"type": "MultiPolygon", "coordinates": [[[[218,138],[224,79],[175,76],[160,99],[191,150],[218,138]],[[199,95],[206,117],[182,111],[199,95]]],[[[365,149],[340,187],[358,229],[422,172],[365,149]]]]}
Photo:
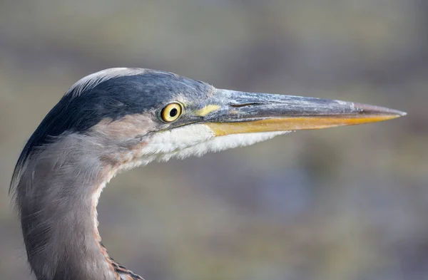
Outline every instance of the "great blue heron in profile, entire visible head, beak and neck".
{"type": "Polygon", "coordinates": [[[111,68],[75,83],[16,164],[10,192],[39,280],[142,279],[108,256],[96,206],[118,172],[251,145],[290,130],[388,120],[398,110],[220,90],[173,73],[111,68]]]}

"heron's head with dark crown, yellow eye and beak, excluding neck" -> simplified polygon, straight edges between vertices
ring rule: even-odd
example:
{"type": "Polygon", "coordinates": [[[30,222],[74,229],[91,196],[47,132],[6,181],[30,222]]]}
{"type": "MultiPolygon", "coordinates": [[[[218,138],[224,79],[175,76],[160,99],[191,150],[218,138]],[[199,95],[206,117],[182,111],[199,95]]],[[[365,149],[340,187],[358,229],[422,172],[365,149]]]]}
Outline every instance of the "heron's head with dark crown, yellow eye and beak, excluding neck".
{"type": "Polygon", "coordinates": [[[27,143],[88,136],[132,167],[251,145],[292,130],[389,120],[398,110],[339,100],[222,90],[173,73],[112,68],[82,78],[27,143]]]}

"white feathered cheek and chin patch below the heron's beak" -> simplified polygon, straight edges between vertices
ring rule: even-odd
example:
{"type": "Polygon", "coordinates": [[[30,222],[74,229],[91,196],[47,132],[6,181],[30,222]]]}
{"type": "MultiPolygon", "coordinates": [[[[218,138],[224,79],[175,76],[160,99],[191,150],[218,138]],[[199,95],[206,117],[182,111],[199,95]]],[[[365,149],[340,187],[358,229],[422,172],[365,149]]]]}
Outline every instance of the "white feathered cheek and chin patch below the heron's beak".
{"type": "Polygon", "coordinates": [[[141,150],[142,157],[138,163],[147,164],[153,160],[167,161],[172,157],[183,159],[201,156],[207,152],[253,145],[285,133],[288,132],[243,133],[215,137],[215,133],[208,125],[186,125],[183,128],[175,128],[153,136],[141,150]]]}

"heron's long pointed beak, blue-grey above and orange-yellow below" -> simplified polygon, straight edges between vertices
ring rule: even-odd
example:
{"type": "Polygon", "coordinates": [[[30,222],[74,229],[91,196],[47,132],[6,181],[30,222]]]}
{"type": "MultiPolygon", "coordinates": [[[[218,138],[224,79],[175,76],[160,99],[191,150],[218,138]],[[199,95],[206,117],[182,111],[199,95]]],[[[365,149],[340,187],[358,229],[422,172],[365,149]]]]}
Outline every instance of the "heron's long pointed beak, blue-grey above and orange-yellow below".
{"type": "Polygon", "coordinates": [[[406,113],[339,100],[217,90],[196,115],[221,136],[359,125],[399,118],[406,113]]]}

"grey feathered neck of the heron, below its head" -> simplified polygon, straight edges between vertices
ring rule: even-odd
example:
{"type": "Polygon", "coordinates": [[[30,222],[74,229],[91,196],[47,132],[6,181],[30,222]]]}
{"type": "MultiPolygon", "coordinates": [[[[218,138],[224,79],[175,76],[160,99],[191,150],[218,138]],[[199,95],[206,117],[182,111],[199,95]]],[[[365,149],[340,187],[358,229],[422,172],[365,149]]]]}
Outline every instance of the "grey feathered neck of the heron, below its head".
{"type": "Polygon", "coordinates": [[[118,279],[96,228],[108,147],[88,135],[62,135],[32,154],[21,171],[16,201],[37,279],[118,279]]]}

